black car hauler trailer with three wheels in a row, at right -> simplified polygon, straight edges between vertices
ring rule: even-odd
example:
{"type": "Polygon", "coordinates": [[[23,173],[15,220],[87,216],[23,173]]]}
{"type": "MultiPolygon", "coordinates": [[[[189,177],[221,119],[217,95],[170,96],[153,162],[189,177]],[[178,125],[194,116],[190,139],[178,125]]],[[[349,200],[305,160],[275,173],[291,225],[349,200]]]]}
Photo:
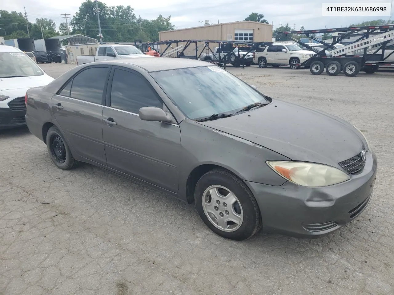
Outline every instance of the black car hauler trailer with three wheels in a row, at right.
{"type": "MultiPolygon", "coordinates": [[[[303,63],[301,66],[309,67],[310,72],[313,75],[320,75],[326,70],[330,76],[338,75],[341,70],[344,74],[349,77],[356,76],[360,70],[368,74],[377,72],[379,66],[394,66],[394,63],[386,62],[388,57],[394,53],[391,52],[385,56],[386,45],[394,41],[394,25],[383,25],[383,26],[362,26],[362,27],[348,27],[348,28],[334,28],[334,29],[323,29],[323,30],[304,30],[304,31],[289,31],[283,32],[283,34],[298,34],[306,35],[307,37],[319,42],[323,45],[323,49],[317,49],[299,41],[293,37],[290,37],[294,42],[297,42],[301,46],[308,48],[316,52],[316,54],[303,63]],[[340,43],[351,35],[356,33],[364,32],[354,42],[347,44],[346,46],[335,48],[335,44],[340,43]],[[316,33],[334,33],[341,32],[339,36],[332,44],[328,44],[322,40],[318,40],[313,37],[312,34],[316,33]],[[374,33],[374,34],[372,34],[374,33]],[[367,54],[368,50],[374,47],[372,54],[367,54]],[[320,51],[319,51],[320,50],[320,51]],[[326,50],[330,50],[332,55],[327,56],[326,50]],[[381,54],[376,54],[382,51],[381,54]]],[[[290,66],[290,65],[283,65],[290,66]]]]}

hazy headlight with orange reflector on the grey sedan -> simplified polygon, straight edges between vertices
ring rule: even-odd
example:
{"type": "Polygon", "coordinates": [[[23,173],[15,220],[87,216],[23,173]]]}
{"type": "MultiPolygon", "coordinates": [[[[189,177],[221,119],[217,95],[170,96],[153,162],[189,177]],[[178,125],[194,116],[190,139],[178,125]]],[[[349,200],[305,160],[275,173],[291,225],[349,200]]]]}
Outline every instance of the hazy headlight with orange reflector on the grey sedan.
{"type": "Polygon", "coordinates": [[[323,164],[292,161],[267,161],[267,164],[288,181],[312,188],[342,183],[350,179],[349,175],[341,170],[323,164]]]}

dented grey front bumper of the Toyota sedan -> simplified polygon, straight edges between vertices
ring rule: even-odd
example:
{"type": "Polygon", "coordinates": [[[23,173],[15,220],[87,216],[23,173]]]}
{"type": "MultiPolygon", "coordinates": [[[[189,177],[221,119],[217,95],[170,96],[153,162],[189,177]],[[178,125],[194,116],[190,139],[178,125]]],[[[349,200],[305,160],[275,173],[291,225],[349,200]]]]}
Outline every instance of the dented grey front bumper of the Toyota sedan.
{"type": "Polygon", "coordinates": [[[361,214],[371,199],[376,170],[377,159],[369,149],[362,171],[344,183],[321,188],[307,188],[289,181],[281,186],[246,183],[260,207],[264,230],[318,238],[361,214]]]}

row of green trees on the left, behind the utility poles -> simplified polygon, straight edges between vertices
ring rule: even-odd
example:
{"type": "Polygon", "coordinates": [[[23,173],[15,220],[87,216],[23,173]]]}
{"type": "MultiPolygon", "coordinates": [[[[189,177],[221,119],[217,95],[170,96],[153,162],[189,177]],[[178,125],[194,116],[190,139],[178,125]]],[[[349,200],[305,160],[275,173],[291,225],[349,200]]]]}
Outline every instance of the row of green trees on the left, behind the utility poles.
{"type": "MultiPolygon", "coordinates": [[[[156,19],[148,20],[136,17],[134,9],[130,6],[107,6],[100,1],[97,4],[104,42],[158,41],[159,31],[175,29],[171,23],[171,16],[159,15],[156,19]]],[[[51,18],[36,18],[35,23],[28,21],[26,26],[26,19],[20,12],[0,10],[0,14],[0,28],[5,30],[5,32],[0,30],[0,35],[7,35],[4,39],[28,38],[29,35],[33,39],[43,37],[46,39],[67,35],[65,22],[61,22],[59,29],[56,30],[56,23],[51,18]]],[[[95,2],[91,0],[83,2],[68,23],[68,27],[71,35],[82,34],[99,39],[95,2]]]]}

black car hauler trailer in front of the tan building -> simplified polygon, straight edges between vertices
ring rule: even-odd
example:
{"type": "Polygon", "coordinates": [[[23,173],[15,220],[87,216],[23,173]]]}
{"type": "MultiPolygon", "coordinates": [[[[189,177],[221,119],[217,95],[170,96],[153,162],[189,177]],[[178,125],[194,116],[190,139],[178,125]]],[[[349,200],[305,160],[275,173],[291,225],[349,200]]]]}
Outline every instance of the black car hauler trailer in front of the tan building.
{"type": "Polygon", "coordinates": [[[204,50],[206,54],[212,53],[212,56],[214,56],[214,59],[212,60],[206,60],[209,63],[214,63],[219,66],[224,66],[226,68],[226,63],[230,63],[229,58],[231,57],[232,53],[234,52],[234,49],[238,47],[238,49],[243,49],[243,50],[248,50],[247,53],[244,55],[240,55],[240,50],[235,54],[236,60],[233,61],[234,66],[241,66],[242,68],[245,67],[245,57],[253,52],[254,50],[257,50],[258,48],[264,48],[266,46],[272,45],[273,42],[242,42],[242,41],[219,41],[219,40],[166,40],[166,41],[157,41],[157,42],[149,42],[149,45],[165,45],[166,48],[163,50],[163,52],[160,53],[160,57],[165,56],[167,53],[175,54],[176,57],[179,58],[189,58],[189,59],[200,59],[201,55],[203,54],[204,50]],[[180,43],[186,43],[184,46],[179,46],[180,43]],[[199,46],[197,43],[202,43],[199,46]],[[217,46],[220,48],[218,50],[218,57],[215,56],[215,53],[212,51],[212,49],[209,47],[209,44],[217,44],[217,46]],[[188,51],[186,51],[189,49],[188,51]],[[190,50],[191,49],[191,50],[190,50]],[[198,50],[201,50],[200,54],[198,54],[198,50]],[[191,51],[195,51],[195,55],[186,55],[187,53],[190,53],[191,51]],[[221,54],[221,52],[224,52],[221,54]]]}

